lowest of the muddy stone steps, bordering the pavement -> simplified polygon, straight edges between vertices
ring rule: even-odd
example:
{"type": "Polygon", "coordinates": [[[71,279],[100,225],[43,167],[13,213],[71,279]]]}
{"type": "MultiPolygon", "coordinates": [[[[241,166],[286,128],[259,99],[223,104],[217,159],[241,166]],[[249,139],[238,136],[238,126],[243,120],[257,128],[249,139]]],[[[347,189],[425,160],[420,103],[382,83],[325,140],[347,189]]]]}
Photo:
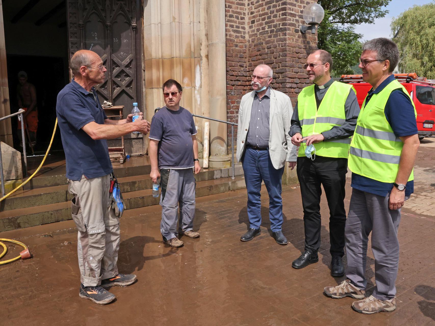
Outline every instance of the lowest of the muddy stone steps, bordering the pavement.
{"type": "MultiPolygon", "coordinates": [[[[243,176],[236,176],[235,179],[224,177],[197,181],[196,196],[213,195],[242,188],[245,188],[243,176]]],[[[151,206],[159,202],[159,198],[152,196],[151,189],[126,192],[123,193],[123,197],[127,209],[151,206]]],[[[0,212],[0,232],[70,219],[71,207],[69,201],[17,208],[0,212]]]]}

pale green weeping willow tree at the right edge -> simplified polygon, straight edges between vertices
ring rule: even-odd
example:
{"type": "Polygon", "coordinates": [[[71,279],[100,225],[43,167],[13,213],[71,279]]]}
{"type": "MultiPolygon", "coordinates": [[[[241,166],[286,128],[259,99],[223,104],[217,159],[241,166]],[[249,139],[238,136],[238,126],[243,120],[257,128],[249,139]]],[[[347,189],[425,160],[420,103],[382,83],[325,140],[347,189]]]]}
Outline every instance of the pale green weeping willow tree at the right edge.
{"type": "Polygon", "coordinates": [[[400,51],[399,70],[435,78],[435,2],[414,6],[391,22],[400,51]]]}

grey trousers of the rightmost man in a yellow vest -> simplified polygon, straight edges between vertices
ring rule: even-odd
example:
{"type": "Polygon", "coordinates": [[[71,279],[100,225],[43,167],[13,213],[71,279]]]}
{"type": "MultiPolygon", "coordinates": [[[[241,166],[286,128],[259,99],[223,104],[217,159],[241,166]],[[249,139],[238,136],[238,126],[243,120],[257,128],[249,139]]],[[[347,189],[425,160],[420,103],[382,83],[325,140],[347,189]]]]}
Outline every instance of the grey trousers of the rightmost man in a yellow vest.
{"type": "MultiPolygon", "coordinates": [[[[406,197],[408,199],[409,197],[406,197]]],[[[346,277],[360,289],[365,289],[368,235],[371,232],[371,250],[375,256],[375,290],[380,300],[392,299],[396,294],[395,281],[399,265],[397,231],[400,209],[388,208],[389,195],[383,197],[352,189],[348,219],[345,226],[346,277]]]]}

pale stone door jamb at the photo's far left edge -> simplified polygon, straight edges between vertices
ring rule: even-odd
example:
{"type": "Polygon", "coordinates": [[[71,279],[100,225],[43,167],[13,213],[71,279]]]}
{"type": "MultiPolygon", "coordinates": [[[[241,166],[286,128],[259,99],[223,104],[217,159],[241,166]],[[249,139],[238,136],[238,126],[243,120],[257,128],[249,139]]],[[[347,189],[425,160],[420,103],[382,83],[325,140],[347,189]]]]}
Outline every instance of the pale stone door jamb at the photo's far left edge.
{"type": "MultiPolygon", "coordinates": [[[[9,87],[7,83],[6,45],[3,28],[3,6],[0,0],[0,116],[10,114],[9,87]]],[[[13,146],[12,126],[10,119],[0,122],[0,141],[13,146]]]]}

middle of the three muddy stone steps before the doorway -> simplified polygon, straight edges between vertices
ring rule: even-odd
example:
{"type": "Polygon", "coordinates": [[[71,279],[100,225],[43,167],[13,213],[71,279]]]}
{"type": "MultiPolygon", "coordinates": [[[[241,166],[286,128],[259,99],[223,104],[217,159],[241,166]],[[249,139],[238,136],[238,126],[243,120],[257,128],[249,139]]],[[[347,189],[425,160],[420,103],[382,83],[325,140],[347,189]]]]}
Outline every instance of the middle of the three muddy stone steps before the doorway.
{"type": "MultiPolygon", "coordinates": [[[[195,180],[199,182],[219,179],[221,177],[228,177],[228,173],[231,173],[231,169],[206,169],[196,174],[195,180]]],[[[237,166],[235,168],[235,175],[241,174],[243,174],[243,170],[241,166],[237,166]]],[[[152,180],[149,174],[118,177],[118,181],[121,185],[124,198],[126,198],[128,192],[152,188],[152,180]]],[[[0,202],[0,212],[69,201],[72,196],[68,193],[66,182],[64,177],[64,184],[61,186],[17,190],[16,193],[0,202]]]]}

